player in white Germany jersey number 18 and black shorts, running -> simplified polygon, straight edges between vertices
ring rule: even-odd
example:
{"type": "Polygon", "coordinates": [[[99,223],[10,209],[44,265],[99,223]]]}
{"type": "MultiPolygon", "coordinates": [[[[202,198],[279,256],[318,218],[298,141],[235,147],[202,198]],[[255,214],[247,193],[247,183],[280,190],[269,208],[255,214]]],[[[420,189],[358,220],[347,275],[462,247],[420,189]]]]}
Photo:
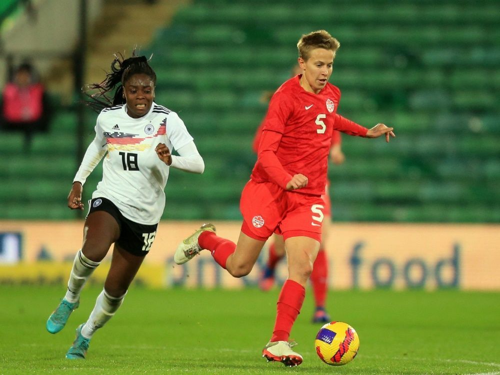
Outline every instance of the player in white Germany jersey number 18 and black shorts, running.
{"type": "Polygon", "coordinates": [[[88,320],[76,329],[66,358],[85,358],[90,338],[114,315],[153,243],[165,206],[171,167],[202,173],[203,159],[175,112],[154,103],[156,75],[144,56],[115,55],[111,73],[90,86],[97,117],[95,138],[74,177],[68,207],[83,209],[82,186],[105,156],[102,181],[92,194],[67,292],[47,320],[50,333],[60,331],[79,305],[81,288],[114,243],[104,288],[88,320]],[[118,87],[111,101],[106,94],[118,87]],[[179,156],[171,155],[172,147],[179,156]]]}

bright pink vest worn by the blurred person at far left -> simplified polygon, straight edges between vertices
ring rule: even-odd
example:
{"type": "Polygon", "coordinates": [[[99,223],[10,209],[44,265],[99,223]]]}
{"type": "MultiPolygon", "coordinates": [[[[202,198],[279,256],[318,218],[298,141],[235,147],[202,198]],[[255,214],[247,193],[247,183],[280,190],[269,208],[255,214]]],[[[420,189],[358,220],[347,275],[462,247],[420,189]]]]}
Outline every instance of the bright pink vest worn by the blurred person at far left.
{"type": "Polygon", "coordinates": [[[10,122],[39,120],[42,111],[43,86],[41,84],[19,88],[13,83],[3,90],[3,117],[10,122]]]}

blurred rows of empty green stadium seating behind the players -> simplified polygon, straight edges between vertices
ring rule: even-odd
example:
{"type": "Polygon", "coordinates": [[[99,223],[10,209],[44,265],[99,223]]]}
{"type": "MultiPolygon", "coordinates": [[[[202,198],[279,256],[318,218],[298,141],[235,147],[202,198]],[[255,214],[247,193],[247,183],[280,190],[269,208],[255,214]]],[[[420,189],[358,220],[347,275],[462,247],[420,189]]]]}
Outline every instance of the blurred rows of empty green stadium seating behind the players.
{"type": "MultiPolygon", "coordinates": [[[[397,136],[388,145],[342,138],[346,161],[329,169],[334,219],[500,221],[499,11],[494,0],[193,0],[143,51],[153,53],[156,102],[179,114],[205,160],[203,176],[171,172],[163,218],[240,218],[262,94],[288,78],[300,35],[325,29],[341,43],[330,79],[342,90],[339,113],[367,127],[384,122],[397,136]]],[[[76,166],[74,122],[71,112],[57,114],[25,162],[21,138],[0,137],[9,161],[0,177],[18,176],[15,188],[0,190],[2,201],[32,196],[22,187],[32,162],[50,205],[42,214],[33,200],[32,210],[2,209],[1,218],[67,217],[64,204],[60,213],[53,207],[76,166]]],[[[91,133],[89,121],[85,141],[91,133]]]]}

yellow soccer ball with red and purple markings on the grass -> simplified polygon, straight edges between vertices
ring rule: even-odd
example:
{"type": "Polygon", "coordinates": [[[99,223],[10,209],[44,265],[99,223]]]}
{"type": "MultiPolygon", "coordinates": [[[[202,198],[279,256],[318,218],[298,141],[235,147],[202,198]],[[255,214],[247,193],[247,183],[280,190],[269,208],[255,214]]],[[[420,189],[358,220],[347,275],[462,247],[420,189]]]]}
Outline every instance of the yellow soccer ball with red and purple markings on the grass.
{"type": "Polygon", "coordinates": [[[324,363],[341,366],[356,356],[359,336],[349,324],[332,321],[319,329],[314,346],[317,355],[324,363]]]}

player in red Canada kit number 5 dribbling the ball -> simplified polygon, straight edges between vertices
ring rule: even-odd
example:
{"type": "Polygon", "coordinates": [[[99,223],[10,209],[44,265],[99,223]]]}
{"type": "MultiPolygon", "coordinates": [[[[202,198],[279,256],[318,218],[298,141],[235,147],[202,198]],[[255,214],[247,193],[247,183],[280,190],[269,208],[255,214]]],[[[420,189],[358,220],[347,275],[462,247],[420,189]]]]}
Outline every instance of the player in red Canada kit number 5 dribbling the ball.
{"type": "Polygon", "coordinates": [[[302,75],[289,79],[274,93],[264,119],[257,162],[243,188],[243,216],[237,245],[203,224],[181,242],[174,261],[182,264],[202,249],[232,276],[247,275],[272,233],[283,236],[288,278],[277,301],[269,342],[262,349],[268,361],[287,366],[302,363],[302,356],[288,342],[305,295],[305,285],[321,241],[326,169],[333,130],[365,138],[394,137],[392,128],[377,124],[371,129],[336,113],[340,91],[328,83],[339,47],[321,30],[298,41],[302,75]]]}

